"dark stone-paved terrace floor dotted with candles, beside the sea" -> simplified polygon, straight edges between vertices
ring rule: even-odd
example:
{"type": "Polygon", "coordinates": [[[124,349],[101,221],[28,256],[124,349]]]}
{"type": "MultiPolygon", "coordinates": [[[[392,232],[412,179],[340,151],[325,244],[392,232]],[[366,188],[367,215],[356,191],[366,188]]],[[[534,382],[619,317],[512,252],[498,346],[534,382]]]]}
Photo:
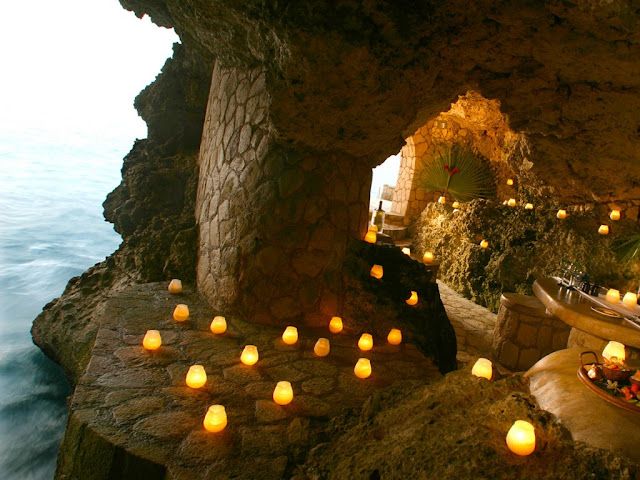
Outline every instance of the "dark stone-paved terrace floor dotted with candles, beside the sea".
{"type": "MultiPolygon", "coordinates": [[[[410,344],[392,346],[374,338],[372,351],[359,351],[361,332],[350,331],[348,319],[337,335],[328,328],[299,328],[298,343],[288,346],[281,340],[282,328],[233,317],[227,317],[225,334],[214,335],[209,324],[216,314],[195,292],[170,295],[160,283],[133,286],[110,299],[73,396],[72,423],[138,458],[166,465],[166,478],[276,479],[290,475],[292,466],[322,443],[332,418],[360,407],[374,391],[396,381],[424,385],[441,378],[410,344]],[[179,303],[188,304],[191,314],[182,323],[172,319],[179,303]],[[155,352],[141,346],[150,329],[159,330],[163,339],[155,352]],[[313,353],[318,337],[331,341],[327,357],[313,353]],[[260,355],[251,367],[240,362],[246,344],[257,345],[260,355]],[[353,373],[359,357],[371,359],[368,379],[353,373]],[[193,390],[184,378],[196,363],[204,365],[208,380],[193,390]],[[272,400],[281,380],[290,381],[294,391],[293,402],[284,407],[272,400]],[[202,426],[212,404],[224,405],[228,416],[219,434],[202,426]]],[[[65,450],[82,451],[87,432],[76,437],[65,438],[65,450]]],[[[68,468],[80,463],[75,459],[68,468]]],[[[67,474],[64,478],[78,476],[64,471],[64,461],[61,465],[58,473],[67,474]]]]}

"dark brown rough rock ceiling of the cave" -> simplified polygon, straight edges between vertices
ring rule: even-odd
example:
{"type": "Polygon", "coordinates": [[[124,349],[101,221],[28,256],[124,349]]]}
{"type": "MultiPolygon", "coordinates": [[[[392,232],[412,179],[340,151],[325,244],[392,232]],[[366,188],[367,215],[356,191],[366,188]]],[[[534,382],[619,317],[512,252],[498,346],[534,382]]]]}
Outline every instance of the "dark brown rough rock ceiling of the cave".
{"type": "Polygon", "coordinates": [[[497,99],[566,202],[640,198],[640,1],[121,0],[203,62],[263,66],[277,138],[372,166],[497,99]]]}

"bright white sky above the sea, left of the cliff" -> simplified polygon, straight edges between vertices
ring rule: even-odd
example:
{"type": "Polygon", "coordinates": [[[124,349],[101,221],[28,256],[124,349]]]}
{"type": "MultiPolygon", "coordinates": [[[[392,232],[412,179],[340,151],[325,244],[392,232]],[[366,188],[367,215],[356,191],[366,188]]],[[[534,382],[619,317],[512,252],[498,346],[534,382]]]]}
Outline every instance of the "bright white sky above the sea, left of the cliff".
{"type": "Polygon", "coordinates": [[[4,2],[1,10],[1,135],[146,137],[133,100],[171,56],[173,30],[117,0],[4,2]]]}

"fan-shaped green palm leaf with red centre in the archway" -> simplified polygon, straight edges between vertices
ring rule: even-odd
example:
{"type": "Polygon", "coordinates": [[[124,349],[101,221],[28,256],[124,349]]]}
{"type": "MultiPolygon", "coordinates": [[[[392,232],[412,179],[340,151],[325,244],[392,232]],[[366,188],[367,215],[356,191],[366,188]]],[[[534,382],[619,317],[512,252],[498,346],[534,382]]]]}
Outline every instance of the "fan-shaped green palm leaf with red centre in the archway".
{"type": "Polygon", "coordinates": [[[493,190],[487,162],[462,143],[438,147],[434,157],[420,170],[417,185],[425,190],[448,192],[459,202],[486,198],[493,190]]]}

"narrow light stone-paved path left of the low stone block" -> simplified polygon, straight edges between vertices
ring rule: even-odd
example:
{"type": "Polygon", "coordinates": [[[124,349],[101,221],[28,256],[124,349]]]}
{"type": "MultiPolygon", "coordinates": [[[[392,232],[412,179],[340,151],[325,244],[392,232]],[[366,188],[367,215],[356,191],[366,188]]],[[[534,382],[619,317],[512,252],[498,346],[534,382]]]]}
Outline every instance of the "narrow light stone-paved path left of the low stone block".
{"type": "MultiPolygon", "coordinates": [[[[456,331],[458,352],[475,357],[491,357],[496,314],[467,300],[438,280],[440,299],[456,331]]],[[[461,360],[459,358],[458,360],[461,360]]]]}

